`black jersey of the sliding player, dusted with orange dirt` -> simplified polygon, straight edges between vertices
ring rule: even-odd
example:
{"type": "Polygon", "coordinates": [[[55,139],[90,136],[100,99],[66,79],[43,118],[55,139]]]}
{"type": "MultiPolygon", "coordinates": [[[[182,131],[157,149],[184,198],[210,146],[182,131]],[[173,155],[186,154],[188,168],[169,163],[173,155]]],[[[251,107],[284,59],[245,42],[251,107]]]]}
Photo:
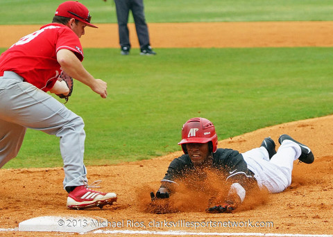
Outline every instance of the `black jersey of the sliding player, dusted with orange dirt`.
{"type": "MultiPolygon", "coordinates": [[[[213,161],[210,168],[222,173],[223,177],[226,177],[228,181],[239,183],[244,188],[249,188],[249,184],[256,183],[254,173],[248,169],[246,161],[244,161],[243,156],[237,150],[217,149],[213,153],[213,161]]],[[[188,154],[182,155],[171,161],[162,182],[182,180],[192,174],[196,175],[194,164],[188,154]]],[[[164,185],[162,184],[162,186],[164,185]]]]}

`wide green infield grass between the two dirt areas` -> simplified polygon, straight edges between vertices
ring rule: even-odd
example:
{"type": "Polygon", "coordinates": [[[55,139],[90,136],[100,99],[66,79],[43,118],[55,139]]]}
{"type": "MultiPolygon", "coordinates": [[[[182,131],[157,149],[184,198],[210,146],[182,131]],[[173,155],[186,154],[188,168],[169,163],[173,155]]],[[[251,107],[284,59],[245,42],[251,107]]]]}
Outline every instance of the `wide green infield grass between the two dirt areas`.
{"type": "MultiPolygon", "coordinates": [[[[210,119],[221,140],[333,112],[333,48],[131,53],[85,50],[87,70],[108,82],[105,100],[76,82],[66,105],[85,121],[87,165],[180,150],[182,124],[194,116],[210,119]]],[[[18,157],[5,167],[46,166],[62,166],[58,138],[28,130],[18,157]]]]}

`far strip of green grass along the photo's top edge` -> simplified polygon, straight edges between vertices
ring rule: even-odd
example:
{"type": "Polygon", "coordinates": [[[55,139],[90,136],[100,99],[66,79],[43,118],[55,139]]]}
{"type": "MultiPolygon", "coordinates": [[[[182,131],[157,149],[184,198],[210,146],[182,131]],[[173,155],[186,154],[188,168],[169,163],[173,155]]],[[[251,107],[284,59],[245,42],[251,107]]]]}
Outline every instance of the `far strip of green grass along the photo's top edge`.
{"type": "MultiPolygon", "coordinates": [[[[47,24],[63,0],[1,0],[0,24],[47,24]]],[[[93,23],[116,23],[114,2],[81,0],[93,23]]],[[[332,0],[144,0],[148,22],[332,21],[332,0]]],[[[133,17],[130,15],[130,22],[133,17]]]]}

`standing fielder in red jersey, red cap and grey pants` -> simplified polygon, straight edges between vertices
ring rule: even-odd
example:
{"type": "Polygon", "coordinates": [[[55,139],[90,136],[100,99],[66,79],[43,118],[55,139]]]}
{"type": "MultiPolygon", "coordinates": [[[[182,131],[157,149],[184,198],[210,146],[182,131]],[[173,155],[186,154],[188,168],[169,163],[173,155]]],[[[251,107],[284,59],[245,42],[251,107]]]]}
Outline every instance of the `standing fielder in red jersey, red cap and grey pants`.
{"type": "Polygon", "coordinates": [[[117,200],[115,193],[89,189],[83,164],[83,119],[46,94],[69,96],[70,80],[75,78],[106,98],[106,82],[95,79],[81,64],[79,38],[86,26],[97,28],[90,20],[82,3],[65,1],[58,6],[52,24],[22,37],[0,56],[0,168],[17,156],[26,128],[60,137],[63,186],[71,209],[103,207],[117,200]]]}

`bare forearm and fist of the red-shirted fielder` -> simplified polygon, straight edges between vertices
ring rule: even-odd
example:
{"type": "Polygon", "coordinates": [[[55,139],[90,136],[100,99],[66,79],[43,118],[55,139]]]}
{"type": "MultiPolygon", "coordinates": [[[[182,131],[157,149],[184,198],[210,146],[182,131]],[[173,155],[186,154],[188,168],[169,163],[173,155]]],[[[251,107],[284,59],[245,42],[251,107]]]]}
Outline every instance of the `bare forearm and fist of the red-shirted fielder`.
{"type": "Polygon", "coordinates": [[[60,49],[57,52],[57,60],[62,69],[66,71],[69,76],[87,85],[92,91],[101,95],[102,98],[108,96],[106,82],[101,79],[95,79],[94,76],[83,67],[83,64],[72,51],[60,49]]]}

